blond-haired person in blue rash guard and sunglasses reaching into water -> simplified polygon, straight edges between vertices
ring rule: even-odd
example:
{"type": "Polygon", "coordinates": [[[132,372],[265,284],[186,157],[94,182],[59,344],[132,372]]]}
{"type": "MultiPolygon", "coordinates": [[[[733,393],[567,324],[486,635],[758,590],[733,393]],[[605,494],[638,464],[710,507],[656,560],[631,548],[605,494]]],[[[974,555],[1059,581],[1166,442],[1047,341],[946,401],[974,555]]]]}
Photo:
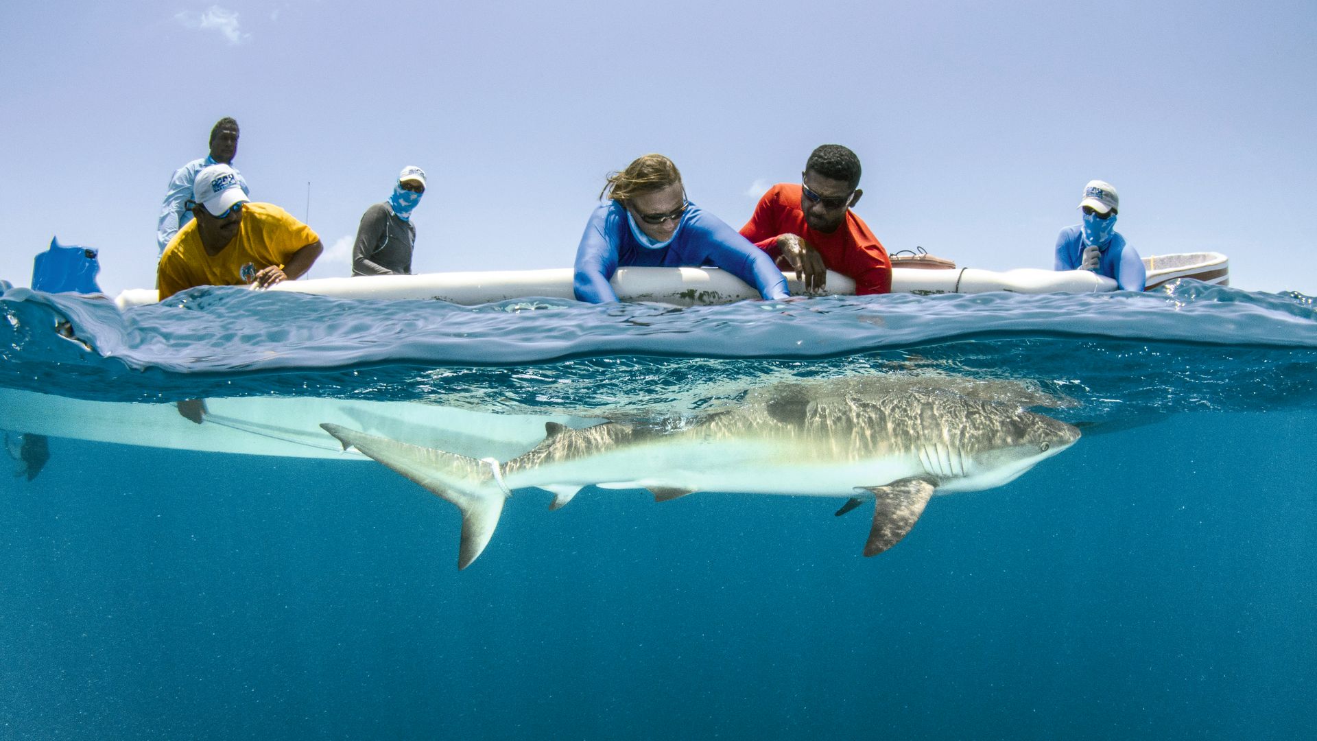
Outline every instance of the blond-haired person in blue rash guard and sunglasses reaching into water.
{"type": "Polygon", "coordinates": [[[608,281],[622,265],[722,268],[766,299],[786,298],[773,258],[718,216],[686,200],[681,173],[662,154],[645,154],[608,175],[607,198],[585,225],[576,260],[578,301],[618,301],[608,281]]]}

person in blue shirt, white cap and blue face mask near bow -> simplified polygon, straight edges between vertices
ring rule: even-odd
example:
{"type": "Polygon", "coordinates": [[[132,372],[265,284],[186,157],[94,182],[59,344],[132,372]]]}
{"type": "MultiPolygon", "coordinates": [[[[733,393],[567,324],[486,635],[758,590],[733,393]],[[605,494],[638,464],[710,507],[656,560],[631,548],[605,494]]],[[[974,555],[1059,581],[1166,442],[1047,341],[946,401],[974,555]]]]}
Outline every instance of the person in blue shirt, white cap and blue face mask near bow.
{"type": "Polygon", "coordinates": [[[1121,198],[1104,181],[1089,181],[1079,202],[1084,222],[1062,229],[1056,236],[1058,270],[1093,270],[1115,278],[1121,290],[1141,291],[1147,281],[1143,260],[1115,231],[1121,198]]]}

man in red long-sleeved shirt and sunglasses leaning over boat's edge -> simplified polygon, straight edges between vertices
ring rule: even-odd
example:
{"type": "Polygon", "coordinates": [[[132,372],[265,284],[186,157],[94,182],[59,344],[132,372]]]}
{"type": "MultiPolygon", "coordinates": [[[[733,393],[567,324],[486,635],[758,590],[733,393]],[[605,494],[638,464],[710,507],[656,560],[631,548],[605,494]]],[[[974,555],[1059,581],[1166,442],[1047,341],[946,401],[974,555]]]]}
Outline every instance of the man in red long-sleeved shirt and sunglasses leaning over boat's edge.
{"type": "Polygon", "coordinates": [[[802,185],[777,183],[759,199],[741,236],[795,270],[807,290],[823,287],[828,270],[855,280],[856,295],[892,291],[892,258],[851,211],[864,194],[860,158],[839,144],[815,149],[802,185]]]}

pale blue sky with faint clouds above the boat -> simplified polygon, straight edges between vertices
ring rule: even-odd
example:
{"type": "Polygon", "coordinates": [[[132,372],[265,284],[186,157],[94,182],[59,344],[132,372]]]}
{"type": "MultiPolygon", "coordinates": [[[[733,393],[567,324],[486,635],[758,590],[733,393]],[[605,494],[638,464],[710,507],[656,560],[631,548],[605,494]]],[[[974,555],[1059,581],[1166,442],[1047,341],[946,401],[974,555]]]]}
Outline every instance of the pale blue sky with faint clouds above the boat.
{"type": "Polygon", "coordinates": [[[108,293],[154,285],[170,174],[233,116],[253,198],[325,243],[312,277],[403,165],[416,272],[549,268],[640,154],[739,228],[839,142],[889,252],[1050,268],[1102,178],[1142,254],[1312,295],[1313,38],[1312,1],[7,3],[0,277],[58,235],[108,293]]]}

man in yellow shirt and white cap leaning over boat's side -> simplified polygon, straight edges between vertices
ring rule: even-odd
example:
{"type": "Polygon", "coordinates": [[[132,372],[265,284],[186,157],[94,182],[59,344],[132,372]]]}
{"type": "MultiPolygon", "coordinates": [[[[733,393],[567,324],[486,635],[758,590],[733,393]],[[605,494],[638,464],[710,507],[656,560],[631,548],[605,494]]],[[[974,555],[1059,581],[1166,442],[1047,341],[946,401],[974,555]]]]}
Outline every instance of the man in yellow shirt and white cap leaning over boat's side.
{"type": "Polygon", "coordinates": [[[267,289],[303,276],[324,251],[311,227],[249,200],[228,165],[196,174],[187,208],[196,218],[174,235],[155,269],[161,301],[194,286],[267,289]]]}

